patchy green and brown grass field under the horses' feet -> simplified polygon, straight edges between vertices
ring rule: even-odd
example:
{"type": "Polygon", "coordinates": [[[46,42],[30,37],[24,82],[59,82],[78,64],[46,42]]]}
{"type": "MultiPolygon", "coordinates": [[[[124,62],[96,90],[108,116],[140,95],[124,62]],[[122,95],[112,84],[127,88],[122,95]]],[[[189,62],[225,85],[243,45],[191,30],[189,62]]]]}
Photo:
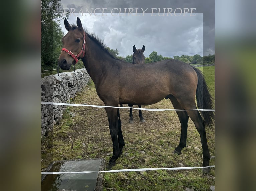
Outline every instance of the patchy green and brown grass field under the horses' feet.
{"type": "MultiPolygon", "coordinates": [[[[214,66],[203,68],[203,74],[214,97],[214,66]]],[[[92,81],[77,94],[72,103],[104,105],[98,98],[92,81]]],[[[127,105],[124,105],[127,106],[127,105]]],[[[134,106],[136,107],[136,106],[134,106]]],[[[143,108],[143,107],[142,107],[143,108]]],[[[144,108],[170,108],[170,100],[162,100],[144,108]]],[[[112,169],[128,168],[170,168],[184,166],[202,166],[202,146],[200,136],[189,119],[187,147],[181,155],[173,153],[179,144],[180,122],[175,111],[142,111],[146,123],[139,122],[138,110],[133,110],[134,124],[129,124],[129,110],[120,109],[122,132],[125,140],[123,155],[112,169]],[[190,147],[188,147],[190,146],[190,147]],[[200,149],[195,150],[194,147],[200,149]],[[143,151],[143,152],[142,152],[143,151]]],[[[206,130],[211,156],[215,155],[214,130],[206,130]]],[[[53,133],[42,141],[42,168],[53,160],[105,158],[108,162],[112,154],[112,141],[109,133],[105,109],[92,107],[69,107],[60,125],[55,126],[53,133]],[[75,114],[74,117],[69,112],[75,114]],[[73,149],[71,141],[73,140],[73,149]],[[85,146],[82,144],[84,143],[85,146]]],[[[210,160],[214,165],[214,159],[210,160]]],[[[104,190],[174,190],[186,188],[209,190],[214,185],[214,168],[209,174],[201,169],[191,170],[156,170],[140,172],[119,172],[104,174],[104,190]]]]}

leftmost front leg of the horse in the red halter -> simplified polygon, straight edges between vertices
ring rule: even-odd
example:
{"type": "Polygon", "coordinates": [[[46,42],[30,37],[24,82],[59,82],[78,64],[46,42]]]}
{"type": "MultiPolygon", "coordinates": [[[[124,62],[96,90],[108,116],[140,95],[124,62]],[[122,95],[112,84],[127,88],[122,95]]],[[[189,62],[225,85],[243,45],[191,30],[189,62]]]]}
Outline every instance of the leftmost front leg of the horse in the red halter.
{"type": "MultiPolygon", "coordinates": [[[[112,138],[112,143],[113,143],[113,156],[107,164],[107,168],[110,169],[112,166],[115,166],[116,159],[120,156],[119,142],[118,142],[118,137],[117,137],[119,134],[118,120],[117,120],[117,108],[106,108],[105,110],[106,110],[106,113],[108,116],[110,136],[112,138]]],[[[121,123],[120,123],[120,125],[121,125],[121,123]]],[[[121,126],[120,126],[120,128],[121,128],[121,126]]]]}

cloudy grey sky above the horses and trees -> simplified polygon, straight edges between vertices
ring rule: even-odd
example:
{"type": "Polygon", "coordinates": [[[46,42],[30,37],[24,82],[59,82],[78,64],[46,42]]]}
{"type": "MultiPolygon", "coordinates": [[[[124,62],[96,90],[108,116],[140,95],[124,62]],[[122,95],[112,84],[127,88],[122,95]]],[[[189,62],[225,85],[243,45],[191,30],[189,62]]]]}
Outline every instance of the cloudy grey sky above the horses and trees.
{"type": "MultiPolygon", "coordinates": [[[[201,4],[191,4],[191,1],[186,0],[184,2],[189,3],[180,4],[180,1],[176,0],[161,3],[159,0],[158,4],[148,4],[147,2],[145,6],[143,0],[139,2],[132,0],[123,2],[117,0],[105,2],[77,0],[75,3],[62,0],[62,5],[63,8],[75,10],[75,14],[70,14],[68,18],[70,24],[76,24],[76,17],[78,16],[86,30],[104,40],[109,48],[117,48],[119,55],[123,57],[133,53],[133,45],[136,48],[142,48],[145,45],[144,55],[146,57],[153,51],[157,51],[158,55],[172,58],[174,55],[180,56],[182,54],[190,56],[214,54],[214,4],[213,7],[210,7],[212,11],[209,10],[208,6],[207,12],[204,12],[204,6],[207,5],[204,5],[203,1],[201,4]],[[84,16],[78,14],[81,8],[84,16]],[[106,12],[103,14],[104,16],[102,16],[103,8],[106,12]],[[111,10],[114,8],[114,11],[117,11],[113,12],[115,16],[111,15],[111,10]],[[133,14],[124,14],[125,8],[126,11],[133,8],[133,14]],[[139,16],[135,15],[136,8],[138,8],[137,15],[139,16]],[[153,13],[156,16],[152,16],[152,8],[157,8],[154,9],[156,13],[153,13]],[[158,15],[159,8],[160,15],[165,16],[158,15]],[[167,8],[173,9],[173,16],[170,14],[167,16],[167,8]],[[176,8],[178,8],[177,16],[174,15],[176,8]],[[189,9],[189,13],[184,15],[184,8],[189,9]],[[85,16],[86,9],[89,11],[97,9],[96,14],[90,16],[87,13],[85,16]],[[142,9],[143,11],[147,9],[144,16],[142,16],[142,9]],[[121,15],[118,14],[120,10],[121,15]],[[181,16],[178,16],[180,10],[183,12],[181,16]],[[191,11],[196,13],[192,13],[193,16],[190,16],[191,11]],[[209,12],[213,14],[209,14],[209,12]]],[[[63,21],[61,21],[61,25],[66,34],[63,21]]]]}

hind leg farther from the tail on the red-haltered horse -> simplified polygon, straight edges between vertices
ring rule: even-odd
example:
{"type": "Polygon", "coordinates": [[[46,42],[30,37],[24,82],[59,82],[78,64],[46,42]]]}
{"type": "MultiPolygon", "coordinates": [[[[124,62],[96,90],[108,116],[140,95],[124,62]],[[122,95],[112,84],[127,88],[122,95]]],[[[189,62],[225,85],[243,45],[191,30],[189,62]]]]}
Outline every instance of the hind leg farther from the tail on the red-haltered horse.
{"type": "MultiPolygon", "coordinates": [[[[183,109],[183,107],[179,104],[177,99],[174,96],[170,96],[169,98],[172,102],[174,109],[183,109]]],[[[179,117],[179,121],[181,124],[181,134],[179,145],[175,148],[174,153],[181,154],[181,150],[187,145],[187,126],[188,126],[188,114],[186,111],[176,111],[179,117]]]]}

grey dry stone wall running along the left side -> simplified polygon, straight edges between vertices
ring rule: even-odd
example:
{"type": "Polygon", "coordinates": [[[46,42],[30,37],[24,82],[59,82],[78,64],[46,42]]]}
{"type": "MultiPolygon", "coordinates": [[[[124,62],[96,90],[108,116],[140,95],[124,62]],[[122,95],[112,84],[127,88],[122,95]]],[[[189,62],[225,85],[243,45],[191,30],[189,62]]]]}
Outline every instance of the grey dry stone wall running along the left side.
{"type": "MultiPolygon", "coordinates": [[[[89,80],[90,76],[84,68],[75,72],[59,73],[59,76],[46,76],[42,78],[41,101],[69,103],[89,80]]],[[[52,131],[55,124],[59,124],[66,107],[42,104],[42,137],[52,131]]]]}

